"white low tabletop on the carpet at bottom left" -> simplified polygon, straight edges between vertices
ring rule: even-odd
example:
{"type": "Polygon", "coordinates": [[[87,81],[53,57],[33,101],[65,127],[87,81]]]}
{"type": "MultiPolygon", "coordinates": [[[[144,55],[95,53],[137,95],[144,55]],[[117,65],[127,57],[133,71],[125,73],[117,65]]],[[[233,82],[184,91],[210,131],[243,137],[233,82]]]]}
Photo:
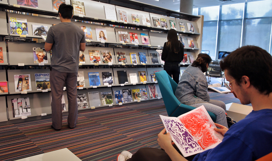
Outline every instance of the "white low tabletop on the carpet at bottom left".
{"type": "Polygon", "coordinates": [[[67,148],[30,156],[16,161],[81,161],[67,148]]]}

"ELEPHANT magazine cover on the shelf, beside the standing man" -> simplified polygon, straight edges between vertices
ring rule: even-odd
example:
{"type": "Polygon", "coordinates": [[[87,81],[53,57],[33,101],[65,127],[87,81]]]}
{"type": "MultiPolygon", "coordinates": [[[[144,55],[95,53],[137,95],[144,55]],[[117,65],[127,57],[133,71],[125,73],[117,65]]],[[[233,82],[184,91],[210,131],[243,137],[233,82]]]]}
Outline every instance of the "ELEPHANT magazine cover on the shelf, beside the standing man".
{"type": "Polygon", "coordinates": [[[51,89],[49,81],[49,73],[37,73],[35,74],[36,89],[45,90],[51,89]]]}

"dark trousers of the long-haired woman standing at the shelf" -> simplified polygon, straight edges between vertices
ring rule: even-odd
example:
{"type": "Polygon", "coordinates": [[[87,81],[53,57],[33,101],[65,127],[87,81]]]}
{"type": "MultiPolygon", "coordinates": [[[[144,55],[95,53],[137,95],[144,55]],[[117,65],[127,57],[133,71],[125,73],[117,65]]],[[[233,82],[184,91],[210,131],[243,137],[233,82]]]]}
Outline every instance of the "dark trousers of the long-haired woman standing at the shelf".
{"type": "Polygon", "coordinates": [[[166,61],[164,63],[164,70],[170,77],[173,76],[173,80],[176,82],[176,84],[179,84],[179,78],[180,78],[179,63],[180,62],[169,62],[169,61],[166,61]]]}

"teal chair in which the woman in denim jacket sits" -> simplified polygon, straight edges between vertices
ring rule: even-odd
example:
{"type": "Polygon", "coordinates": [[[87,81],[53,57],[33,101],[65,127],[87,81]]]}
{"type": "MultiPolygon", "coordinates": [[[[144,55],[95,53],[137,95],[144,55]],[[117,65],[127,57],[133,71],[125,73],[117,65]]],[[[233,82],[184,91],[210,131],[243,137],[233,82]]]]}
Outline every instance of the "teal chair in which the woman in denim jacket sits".
{"type": "MultiPolygon", "coordinates": [[[[195,109],[195,107],[181,104],[180,101],[176,98],[175,93],[176,93],[177,84],[166,73],[165,70],[156,72],[155,75],[159,84],[161,95],[164,99],[164,104],[165,104],[168,116],[178,117],[184,113],[187,113],[195,109]]],[[[209,111],[208,113],[211,116],[212,120],[215,122],[216,120],[215,114],[209,111]]]]}

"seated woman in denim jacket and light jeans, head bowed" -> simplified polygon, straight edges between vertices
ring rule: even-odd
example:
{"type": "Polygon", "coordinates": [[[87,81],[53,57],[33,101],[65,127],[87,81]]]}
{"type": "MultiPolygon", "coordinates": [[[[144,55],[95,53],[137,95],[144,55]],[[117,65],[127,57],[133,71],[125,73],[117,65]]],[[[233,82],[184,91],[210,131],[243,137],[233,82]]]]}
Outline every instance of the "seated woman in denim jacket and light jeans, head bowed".
{"type": "Polygon", "coordinates": [[[198,54],[196,60],[182,74],[175,95],[182,104],[192,107],[204,105],[207,111],[215,114],[215,123],[228,127],[225,103],[210,100],[208,94],[208,83],[203,73],[208,70],[211,61],[208,54],[198,54]]]}

